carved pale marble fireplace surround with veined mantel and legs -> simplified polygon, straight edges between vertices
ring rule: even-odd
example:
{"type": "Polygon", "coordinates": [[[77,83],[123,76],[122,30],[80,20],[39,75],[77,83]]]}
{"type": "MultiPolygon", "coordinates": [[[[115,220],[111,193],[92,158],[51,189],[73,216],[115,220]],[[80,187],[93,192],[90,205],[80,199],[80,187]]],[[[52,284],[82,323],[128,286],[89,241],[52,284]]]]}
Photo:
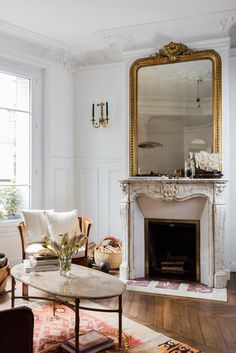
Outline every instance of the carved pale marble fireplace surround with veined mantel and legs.
{"type": "Polygon", "coordinates": [[[144,219],[200,221],[201,283],[225,288],[225,185],[223,179],[131,177],[121,181],[121,279],[144,277],[144,219]]]}

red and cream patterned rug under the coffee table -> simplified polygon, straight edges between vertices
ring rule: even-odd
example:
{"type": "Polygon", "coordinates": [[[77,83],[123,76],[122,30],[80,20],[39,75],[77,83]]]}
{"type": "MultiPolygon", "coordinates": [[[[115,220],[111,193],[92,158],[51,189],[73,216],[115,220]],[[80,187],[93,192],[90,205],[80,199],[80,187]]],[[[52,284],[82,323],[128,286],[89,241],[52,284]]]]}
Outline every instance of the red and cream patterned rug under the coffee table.
{"type": "MultiPolygon", "coordinates": [[[[89,303],[90,305],[90,303],[89,303]]],[[[56,316],[52,315],[50,304],[33,308],[35,316],[34,353],[59,352],[59,342],[74,335],[74,312],[57,305],[56,316]]],[[[177,342],[145,326],[123,317],[123,346],[118,348],[118,315],[81,310],[81,333],[91,329],[114,339],[115,346],[104,350],[106,353],[201,353],[198,349],[177,342]]]]}

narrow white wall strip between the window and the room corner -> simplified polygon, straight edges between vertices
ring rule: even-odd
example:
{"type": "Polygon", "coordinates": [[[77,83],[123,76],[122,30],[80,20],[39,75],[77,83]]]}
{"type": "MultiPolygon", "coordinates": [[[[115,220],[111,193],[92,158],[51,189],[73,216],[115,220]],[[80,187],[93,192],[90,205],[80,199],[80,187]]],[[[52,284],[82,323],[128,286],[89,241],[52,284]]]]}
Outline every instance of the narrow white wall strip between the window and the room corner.
{"type": "Polygon", "coordinates": [[[43,208],[74,207],[74,77],[61,65],[43,76],[43,208]]]}

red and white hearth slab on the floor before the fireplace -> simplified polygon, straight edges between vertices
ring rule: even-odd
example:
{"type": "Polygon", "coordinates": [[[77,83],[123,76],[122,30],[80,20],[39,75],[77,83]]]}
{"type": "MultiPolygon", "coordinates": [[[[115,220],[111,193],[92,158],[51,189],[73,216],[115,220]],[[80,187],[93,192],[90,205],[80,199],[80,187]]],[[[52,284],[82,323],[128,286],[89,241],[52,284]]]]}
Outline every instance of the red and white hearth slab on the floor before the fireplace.
{"type": "Polygon", "coordinates": [[[145,279],[124,281],[126,289],[154,294],[167,294],[179,297],[227,301],[226,288],[211,288],[200,283],[177,281],[147,281],[145,279]]]}

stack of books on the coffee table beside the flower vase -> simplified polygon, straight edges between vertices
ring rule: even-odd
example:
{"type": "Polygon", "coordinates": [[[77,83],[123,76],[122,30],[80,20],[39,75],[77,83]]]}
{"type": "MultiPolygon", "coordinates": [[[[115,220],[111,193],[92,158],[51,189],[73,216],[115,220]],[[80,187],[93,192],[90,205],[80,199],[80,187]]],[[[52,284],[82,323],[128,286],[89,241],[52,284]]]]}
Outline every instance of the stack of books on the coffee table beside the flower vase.
{"type": "Polygon", "coordinates": [[[30,264],[30,260],[24,260],[24,267],[26,272],[40,272],[40,271],[57,271],[59,270],[59,260],[58,256],[37,256],[36,265],[33,268],[30,264]]]}

